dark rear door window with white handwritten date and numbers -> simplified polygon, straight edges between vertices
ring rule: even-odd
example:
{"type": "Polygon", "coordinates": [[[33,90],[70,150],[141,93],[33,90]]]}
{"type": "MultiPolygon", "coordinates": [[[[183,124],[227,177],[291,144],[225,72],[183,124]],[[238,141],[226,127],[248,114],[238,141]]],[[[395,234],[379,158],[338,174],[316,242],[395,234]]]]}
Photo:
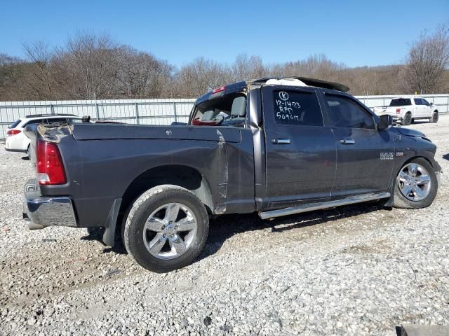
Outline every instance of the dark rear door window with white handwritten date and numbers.
{"type": "Polygon", "coordinates": [[[274,122],[283,125],[323,126],[315,92],[274,90],[274,122]]]}

